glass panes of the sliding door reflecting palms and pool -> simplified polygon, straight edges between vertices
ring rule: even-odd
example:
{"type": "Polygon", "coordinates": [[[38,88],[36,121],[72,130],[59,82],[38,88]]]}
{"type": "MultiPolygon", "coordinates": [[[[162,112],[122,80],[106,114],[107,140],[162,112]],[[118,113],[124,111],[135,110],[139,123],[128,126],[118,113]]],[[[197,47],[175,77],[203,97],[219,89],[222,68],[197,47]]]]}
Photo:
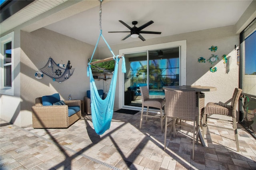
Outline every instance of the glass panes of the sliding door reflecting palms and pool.
{"type": "Polygon", "coordinates": [[[149,87],[150,98],[164,99],[163,86],[179,85],[179,47],[125,54],[124,105],[141,107],[141,86],[149,87]]]}

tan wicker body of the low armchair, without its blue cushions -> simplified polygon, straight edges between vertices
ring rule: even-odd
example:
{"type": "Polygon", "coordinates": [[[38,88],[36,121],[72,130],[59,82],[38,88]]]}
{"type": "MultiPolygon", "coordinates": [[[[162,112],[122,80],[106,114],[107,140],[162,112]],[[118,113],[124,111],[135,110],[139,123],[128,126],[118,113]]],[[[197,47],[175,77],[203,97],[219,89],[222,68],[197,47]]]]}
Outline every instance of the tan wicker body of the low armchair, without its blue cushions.
{"type": "Polygon", "coordinates": [[[36,98],[32,106],[33,128],[68,128],[81,118],[81,108],[77,113],[68,116],[68,107],[81,105],[80,100],[64,101],[66,105],[43,106],[42,97],[36,98]]]}

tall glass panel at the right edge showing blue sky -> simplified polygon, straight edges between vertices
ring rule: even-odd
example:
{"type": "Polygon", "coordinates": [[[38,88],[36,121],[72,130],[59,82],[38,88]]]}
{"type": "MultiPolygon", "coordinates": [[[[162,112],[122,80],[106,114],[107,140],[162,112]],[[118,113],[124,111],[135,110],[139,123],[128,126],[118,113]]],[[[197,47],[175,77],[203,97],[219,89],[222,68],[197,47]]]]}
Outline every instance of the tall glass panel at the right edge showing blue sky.
{"type": "Polygon", "coordinates": [[[242,100],[241,124],[256,136],[256,19],[240,34],[242,100]]]}

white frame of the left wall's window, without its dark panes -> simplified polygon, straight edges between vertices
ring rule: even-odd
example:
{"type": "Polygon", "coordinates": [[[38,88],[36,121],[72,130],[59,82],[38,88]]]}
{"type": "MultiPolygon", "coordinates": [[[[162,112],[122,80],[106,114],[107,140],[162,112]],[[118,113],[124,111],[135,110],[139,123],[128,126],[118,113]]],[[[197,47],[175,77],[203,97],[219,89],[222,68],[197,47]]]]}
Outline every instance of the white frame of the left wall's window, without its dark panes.
{"type": "Polygon", "coordinates": [[[0,93],[2,95],[11,95],[14,96],[14,32],[11,32],[3,37],[0,38],[0,79],[1,79],[1,83],[0,83],[0,93]],[[11,58],[11,62],[10,63],[4,63],[5,61],[5,56],[4,56],[4,45],[6,43],[12,42],[11,45],[11,51],[12,51],[12,58],[11,58]],[[11,81],[12,81],[12,85],[11,87],[5,87],[4,86],[4,79],[5,79],[5,75],[4,75],[4,67],[11,65],[11,81]]]}

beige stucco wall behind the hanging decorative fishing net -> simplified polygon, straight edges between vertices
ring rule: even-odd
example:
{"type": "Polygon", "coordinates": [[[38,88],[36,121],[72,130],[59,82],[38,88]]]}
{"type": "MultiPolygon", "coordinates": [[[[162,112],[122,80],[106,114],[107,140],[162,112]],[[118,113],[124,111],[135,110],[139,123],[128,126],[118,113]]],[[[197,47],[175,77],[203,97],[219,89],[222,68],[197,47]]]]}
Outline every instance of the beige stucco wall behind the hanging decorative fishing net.
{"type": "MultiPolygon", "coordinates": [[[[59,93],[61,99],[83,100],[86,91],[90,89],[87,77],[88,58],[91,57],[93,45],[57,34],[47,29],[34,32],[21,32],[21,69],[20,69],[20,116],[22,126],[32,124],[31,107],[36,97],[59,93]],[[43,79],[36,79],[34,74],[44,67],[49,57],[56,63],[67,64],[70,60],[74,73],[68,80],[58,83],[47,75],[43,79]]],[[[96,56],[98,52],[96,53],[96,56]]]]}

